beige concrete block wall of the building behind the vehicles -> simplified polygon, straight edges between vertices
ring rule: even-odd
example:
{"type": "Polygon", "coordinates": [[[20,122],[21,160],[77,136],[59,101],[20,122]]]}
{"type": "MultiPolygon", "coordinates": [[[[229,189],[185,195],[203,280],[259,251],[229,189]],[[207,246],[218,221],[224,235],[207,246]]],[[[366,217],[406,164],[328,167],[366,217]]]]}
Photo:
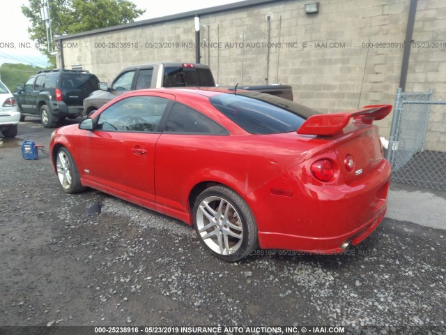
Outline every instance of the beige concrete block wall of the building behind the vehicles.
{"type": "MultiPolygon", "coordinates": [[[[295,101],[321,112],[393,104],[410,0],[323,0],[312,15],[305,13],[308,2],[277,0],[201,14],[201,63],[220,85],[266,84],[266,78],[268,84],[290,84],[295,101]]],[[[82,65],[110,82],[132,64],[195,61],[193,15],[123,27],[65,36],[65,67],[82,65]]],[[[446,1],[418,1],[413,39],[406,91],[434,89],[434,99],[446,100],[446,1]]],[[[445,109],[433,109],[427,149],[446,150],[445,109]]],[[[378,122],[385,137],[391,121],[378,122]]]]}

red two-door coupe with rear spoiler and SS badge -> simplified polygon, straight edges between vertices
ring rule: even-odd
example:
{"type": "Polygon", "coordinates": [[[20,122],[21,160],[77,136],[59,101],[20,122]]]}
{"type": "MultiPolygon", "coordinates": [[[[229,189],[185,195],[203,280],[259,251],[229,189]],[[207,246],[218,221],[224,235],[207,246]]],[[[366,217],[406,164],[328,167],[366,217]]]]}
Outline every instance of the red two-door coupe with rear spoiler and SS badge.
{"type": "Polygon", "coordinates": [[[217,258],[256,248],[339,253],[383,220],[392,105],[320,114],[237,89],[123,94],[50,149],[67,193],[86,186],[194,225],[217,258]]]}

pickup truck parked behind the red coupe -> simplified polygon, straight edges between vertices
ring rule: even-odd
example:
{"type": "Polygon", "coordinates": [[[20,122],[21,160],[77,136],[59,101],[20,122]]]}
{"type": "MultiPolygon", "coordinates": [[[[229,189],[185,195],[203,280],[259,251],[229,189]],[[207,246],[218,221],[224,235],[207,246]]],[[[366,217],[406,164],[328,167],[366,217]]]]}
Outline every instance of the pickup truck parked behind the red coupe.
{"type": "MultiPolygon", "coordinates": [[[[209,66],[185,63],[156,63],[125,68],[110,86],[99,83],[100,90],[84,99],[84,116],[88,116],[116,96],[135,89],[160,87],[215,87],[209,66]]],[[[293,100],[289,85],[239,86],[239,89],[259,91],[293,100]]]]}

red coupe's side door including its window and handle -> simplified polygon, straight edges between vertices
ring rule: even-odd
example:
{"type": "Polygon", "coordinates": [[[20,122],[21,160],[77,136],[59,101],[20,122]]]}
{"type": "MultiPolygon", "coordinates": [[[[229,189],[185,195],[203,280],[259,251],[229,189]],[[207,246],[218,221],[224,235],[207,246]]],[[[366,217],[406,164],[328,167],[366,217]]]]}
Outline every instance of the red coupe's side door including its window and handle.
{"type": "Polygon", "coordinates": [[[174,96],[136,94],[116,101],[80,140],[84,178],[121,198],[155,201],[155,145],[174,96]]]}

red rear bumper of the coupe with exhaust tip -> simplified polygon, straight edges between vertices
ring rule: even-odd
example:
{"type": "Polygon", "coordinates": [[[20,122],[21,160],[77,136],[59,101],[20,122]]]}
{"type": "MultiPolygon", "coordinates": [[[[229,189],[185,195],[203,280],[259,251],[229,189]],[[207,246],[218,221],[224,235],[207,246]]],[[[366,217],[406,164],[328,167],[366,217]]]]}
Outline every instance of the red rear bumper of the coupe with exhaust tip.
{"type": "MultiPolygon", "coordinates": [[[[277,181],[266,184],[256,198],[268,200],[261,207],[251,207],[261,248],[330,254],[344,251],[346,244],[359,244],[383,221],[390,172],[390,164],[383,160],[355,185],[314,186],[294,181],[289,185],[292,196],[272,195],[277,181]]],[[[282,174],[280,179],[286,185],[295,177],[282,174]]]]}

